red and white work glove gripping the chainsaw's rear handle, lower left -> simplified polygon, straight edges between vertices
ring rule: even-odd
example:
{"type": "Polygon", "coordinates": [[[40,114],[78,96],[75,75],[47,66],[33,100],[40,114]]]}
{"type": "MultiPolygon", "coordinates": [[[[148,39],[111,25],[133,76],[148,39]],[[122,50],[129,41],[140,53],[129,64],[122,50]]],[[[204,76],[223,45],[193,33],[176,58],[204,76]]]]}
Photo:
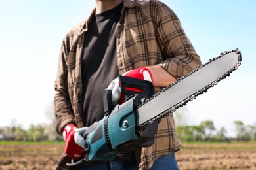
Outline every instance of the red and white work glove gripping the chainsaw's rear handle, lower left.
{"type": "Polygon", "coordinates": [[[74,124],[68,124],[62,131],[64,140],[66,141],[65,153],[73,160],[83,158],[85,150],[83,144],[85,139],[80,135],[88,127],[77,128],[74,124]]]}

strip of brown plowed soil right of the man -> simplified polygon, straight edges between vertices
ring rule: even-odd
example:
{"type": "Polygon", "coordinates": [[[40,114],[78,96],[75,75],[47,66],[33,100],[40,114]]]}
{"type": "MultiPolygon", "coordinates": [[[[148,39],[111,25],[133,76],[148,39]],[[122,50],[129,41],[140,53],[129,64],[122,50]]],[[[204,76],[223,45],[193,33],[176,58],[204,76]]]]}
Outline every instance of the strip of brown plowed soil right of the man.
{"type": "Polygon", "coordinates": [[[256,169],[256,144],[183,144],[180,169],[256,169]]]}

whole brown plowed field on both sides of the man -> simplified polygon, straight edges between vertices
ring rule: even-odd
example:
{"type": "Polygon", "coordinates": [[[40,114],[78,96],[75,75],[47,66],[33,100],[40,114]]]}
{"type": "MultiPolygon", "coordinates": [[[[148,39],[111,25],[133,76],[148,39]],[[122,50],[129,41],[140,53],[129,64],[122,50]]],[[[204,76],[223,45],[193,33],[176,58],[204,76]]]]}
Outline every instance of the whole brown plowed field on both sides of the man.
{"type": "MultiPolygon", "coordinates": [[[[0,169],[54,169],[63,144],[0,144],[0,169]]],[[[256,169],[256,143],[182,144],[180,169],[256,169]]]]}

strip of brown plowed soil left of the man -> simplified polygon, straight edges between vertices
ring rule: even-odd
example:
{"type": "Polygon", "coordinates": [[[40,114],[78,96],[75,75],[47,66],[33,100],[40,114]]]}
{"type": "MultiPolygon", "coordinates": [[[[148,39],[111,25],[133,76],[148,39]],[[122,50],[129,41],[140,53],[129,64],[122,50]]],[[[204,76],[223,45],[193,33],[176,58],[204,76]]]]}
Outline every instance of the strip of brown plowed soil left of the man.
{"type": "Polygon", "coordinates": [[[64,145],[0,145],[2,169],[55,169],[64,145]]]}

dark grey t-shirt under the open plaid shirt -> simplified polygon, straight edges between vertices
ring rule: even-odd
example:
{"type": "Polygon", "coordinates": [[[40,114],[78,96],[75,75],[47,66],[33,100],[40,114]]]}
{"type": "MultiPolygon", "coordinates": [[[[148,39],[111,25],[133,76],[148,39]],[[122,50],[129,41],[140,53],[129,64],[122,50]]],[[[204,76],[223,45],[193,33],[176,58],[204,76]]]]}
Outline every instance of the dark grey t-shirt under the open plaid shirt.
{"type": "Polygon", "coordinates": [[[103,118],[103,90],[118,76],[115,33],[121,8],[122,3],[95,14],[85,33],[81,61],[85,126],[103,118]]]}

